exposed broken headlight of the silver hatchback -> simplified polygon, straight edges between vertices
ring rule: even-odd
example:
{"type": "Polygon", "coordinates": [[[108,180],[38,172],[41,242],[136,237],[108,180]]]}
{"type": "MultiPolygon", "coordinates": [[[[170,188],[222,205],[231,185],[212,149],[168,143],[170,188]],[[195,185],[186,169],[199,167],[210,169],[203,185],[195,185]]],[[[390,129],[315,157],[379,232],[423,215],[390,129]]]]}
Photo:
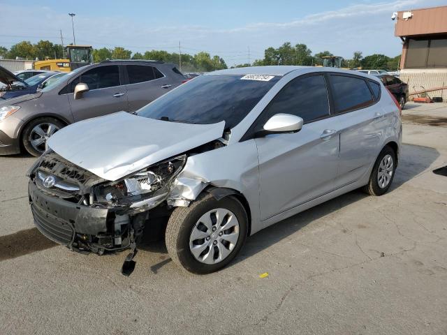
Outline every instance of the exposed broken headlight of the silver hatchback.
{"type": "Polygon", "coordinates": [[[170,184],[182,171],[186,163],[186,155],[170,158],[135,172],[125,179],[112,184],[100,186],[96,192],[99,202],[131,204],[140,207],[149,204],[147,199],[164,200],[170,191],[170,184]],[[143,201],[144,200],[144,201],[143,201]],[[136,204],[136,205],[135,205],[136,204]]]}

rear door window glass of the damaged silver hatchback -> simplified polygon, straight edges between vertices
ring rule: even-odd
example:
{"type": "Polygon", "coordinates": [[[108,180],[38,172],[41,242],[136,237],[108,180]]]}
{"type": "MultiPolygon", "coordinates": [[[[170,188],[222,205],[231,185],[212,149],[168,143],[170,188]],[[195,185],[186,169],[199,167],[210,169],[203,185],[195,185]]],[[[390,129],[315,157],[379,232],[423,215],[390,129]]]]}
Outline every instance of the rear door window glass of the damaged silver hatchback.
{"type": "Polygon", "coordinates": [[[374,102],[371,91],[362,78],[330,75],[330,80],[336,113],[367,107],[374,102]]]}

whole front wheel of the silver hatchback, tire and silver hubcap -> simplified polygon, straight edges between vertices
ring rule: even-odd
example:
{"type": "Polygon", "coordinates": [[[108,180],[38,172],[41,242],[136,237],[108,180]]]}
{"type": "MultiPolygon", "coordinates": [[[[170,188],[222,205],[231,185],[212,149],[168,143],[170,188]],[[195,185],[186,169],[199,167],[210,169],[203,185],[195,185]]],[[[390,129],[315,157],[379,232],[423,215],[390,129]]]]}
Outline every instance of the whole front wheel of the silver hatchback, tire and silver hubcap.
{"type": "Polygon", "coordinates": [[[177,207],[166,227],[166,248],[177,265],[209,274],[228,265],[247,238],[248,217],[234,197],[203,193],[189,207],[177,207]]]}

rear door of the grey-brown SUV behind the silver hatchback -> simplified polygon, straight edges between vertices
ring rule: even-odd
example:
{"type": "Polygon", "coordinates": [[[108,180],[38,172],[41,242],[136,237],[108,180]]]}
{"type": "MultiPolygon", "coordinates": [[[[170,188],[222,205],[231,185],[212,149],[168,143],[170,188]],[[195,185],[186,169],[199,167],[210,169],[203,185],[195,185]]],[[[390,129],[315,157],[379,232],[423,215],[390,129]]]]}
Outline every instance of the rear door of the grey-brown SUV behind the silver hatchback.
{"type": "Polygon", "coordinates": [[[133,112],[173,89],[166,75],[155,66],[126,65],[129,108],[133,112]]]}

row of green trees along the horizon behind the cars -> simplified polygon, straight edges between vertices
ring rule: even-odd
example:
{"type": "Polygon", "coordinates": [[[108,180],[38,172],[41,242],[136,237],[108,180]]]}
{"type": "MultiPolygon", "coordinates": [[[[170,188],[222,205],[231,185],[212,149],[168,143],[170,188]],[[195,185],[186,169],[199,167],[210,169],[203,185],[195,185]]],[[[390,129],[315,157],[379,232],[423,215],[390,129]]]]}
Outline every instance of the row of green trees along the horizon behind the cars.
{"type": "MultiPolygon", "coordinates": [[[[93,50],[95,62],[105,59],[151,59],[154,61],[166,61],[179,66],[179,53],[167,52],[164,50],[150,50],[144,53],[132,52],[124,47],[107,48],[93,50]]],[[[263,59],[256,59],[253,64],[239,64],[235,67],[244,66],[265,66],[265,65],[302,65],[316,66],[323,65],[323,57],[333,56],[331,52],[325,50],[312,54],[307,45],[299,43],[292,45],[286,42],[280,47],[268,47],[264,51],[263,59]]],[[[63,58],[63,48],[59,44],[51,43],[49,40],[40,40],[38,43],[22,41],[10,47],[0,46],[0,58],[15,59],[57,59],[63,58]]],[[[225,61],[218,55],[211,56],[208,52],[198,52],[197,54],[182,53],[182,70],[184,72],[209,72],[227,68],[225,61]]],[[[342,67],[344,68],[380,68],[386,70],[397,70],[399,66],[400,55],[388,57],[384,54],[371,54],[363,57],[362,52],[356,51],[351,59],[344,59],[342,67]]]]}

